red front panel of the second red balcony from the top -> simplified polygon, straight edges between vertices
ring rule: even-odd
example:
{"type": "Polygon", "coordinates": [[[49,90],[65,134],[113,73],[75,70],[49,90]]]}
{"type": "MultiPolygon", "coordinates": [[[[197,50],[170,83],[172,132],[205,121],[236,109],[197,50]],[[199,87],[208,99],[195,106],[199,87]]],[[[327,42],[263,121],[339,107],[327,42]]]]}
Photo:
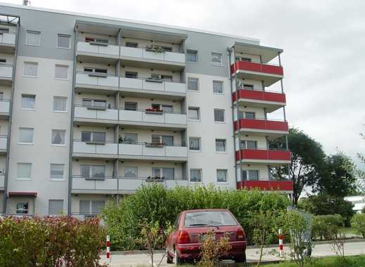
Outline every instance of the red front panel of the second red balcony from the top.
{"type": "MultiPolygon", "coordinates": [[[[244,90],[244,89],[238,90],[238,99],[240,98],[286,103],[285,93],[274,93],[274,92],[258,91],[258,90],[244,90]]],[[[237,100],[236,93],[233,93],[233,102],[236,102],[236,100],[237,100]]]]}

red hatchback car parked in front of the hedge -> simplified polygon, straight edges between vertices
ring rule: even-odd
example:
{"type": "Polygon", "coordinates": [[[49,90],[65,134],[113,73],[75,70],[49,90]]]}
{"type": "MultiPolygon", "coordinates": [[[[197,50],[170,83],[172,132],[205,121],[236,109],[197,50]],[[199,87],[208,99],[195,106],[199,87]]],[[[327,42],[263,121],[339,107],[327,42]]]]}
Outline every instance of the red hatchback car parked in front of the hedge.
{"type": "Polygon", "coordinates": [[[231,250],[226,259],[246,261],[245,232],[228,209],[192,209],[182,211],[175,221],[174,231],[167,237],[167,263],[179,264],[182,260],[198,259],[200,242],[214,230],[214,240],[229,233],[231,250]]]}

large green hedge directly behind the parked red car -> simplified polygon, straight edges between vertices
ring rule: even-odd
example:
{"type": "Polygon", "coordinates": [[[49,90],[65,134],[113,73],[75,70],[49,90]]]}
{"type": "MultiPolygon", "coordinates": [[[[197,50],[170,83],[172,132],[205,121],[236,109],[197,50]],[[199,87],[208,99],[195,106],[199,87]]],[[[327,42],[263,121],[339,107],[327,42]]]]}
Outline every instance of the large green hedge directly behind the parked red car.
{"type": "Polygon", "coordinates": [[[111,249],[139,249],[136,243],[141,233],[141,223],[160,222],[160,228],[168,223],[174,225],[177,215],[186,209],[229,209],[241,223],[248,242],[252,241],[250,211],[286,209],[290,204],[286,195],[278,193],[219,190],[209,187],[176,187],[167,190],[163,185],[153,183],[139,188],[135,195],[124,197],[119,204],[110,202],[103,211],[108,234],[113,239],[111,249]]]}

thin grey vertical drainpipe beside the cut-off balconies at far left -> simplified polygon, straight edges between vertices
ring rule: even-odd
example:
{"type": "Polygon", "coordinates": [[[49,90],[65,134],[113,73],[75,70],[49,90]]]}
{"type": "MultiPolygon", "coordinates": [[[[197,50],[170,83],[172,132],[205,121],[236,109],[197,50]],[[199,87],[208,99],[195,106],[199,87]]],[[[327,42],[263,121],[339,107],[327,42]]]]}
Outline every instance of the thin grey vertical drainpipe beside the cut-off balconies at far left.
{"type": "Polygon", "coordinates": [[[18,23],[16,25],[16,36],[15,36],[15,51],[13,60],[13,73],[11,74],[12,84],[11,84],[11,97],[9,103],[9,124],[8,124],[8,137],[6,141],[6,163],[5,163],[5,176],[4,176],[4,200],[3,200],[3,213],[6,213],[6,204],[8,202],[8,179],[9,179],[9,162],[10,162],[10,145],[11,145],[11,125],[13,122],[13,100],[15,91],[15,71],[16,71],[16,60],[18,56],[18,43],[19,43],[19,27],[20,27],[20,17],[18,18],[18,23]]]}

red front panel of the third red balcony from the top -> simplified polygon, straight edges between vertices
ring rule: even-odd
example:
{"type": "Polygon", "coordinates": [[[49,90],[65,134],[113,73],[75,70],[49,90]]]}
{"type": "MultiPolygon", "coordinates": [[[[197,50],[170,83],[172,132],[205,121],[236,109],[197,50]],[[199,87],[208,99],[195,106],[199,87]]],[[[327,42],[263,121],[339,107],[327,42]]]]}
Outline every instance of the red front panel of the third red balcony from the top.
{"type": "Polygon", "coordinates": [[[270,121],[267,119],[239,119],[234,122],[234,129],[258,129],[267,131],[288,131],[288,122],[270,121]]]}

